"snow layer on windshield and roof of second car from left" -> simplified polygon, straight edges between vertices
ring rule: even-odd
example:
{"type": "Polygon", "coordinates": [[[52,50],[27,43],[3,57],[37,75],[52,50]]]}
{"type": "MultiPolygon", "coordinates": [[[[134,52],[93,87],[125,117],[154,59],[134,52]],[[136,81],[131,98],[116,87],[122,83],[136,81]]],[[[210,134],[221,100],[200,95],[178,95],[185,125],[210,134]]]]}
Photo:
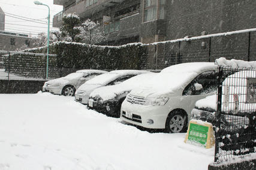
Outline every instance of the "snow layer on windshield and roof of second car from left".
{"type": "Polygon", "coordinates": [[[132,70],[132,69],[115,70],[115,71],[110,71],[109,73],[106,73],[106,74],[98,75],[97,77],[94,77],[89,81],[86,81],[85,84],[100,84],[105,86],[111,81],[116,80],[116,78],[123,77],[125,75],[138,75],[138,74],[144,74],[148,72],[149,71],[132,70]]]}

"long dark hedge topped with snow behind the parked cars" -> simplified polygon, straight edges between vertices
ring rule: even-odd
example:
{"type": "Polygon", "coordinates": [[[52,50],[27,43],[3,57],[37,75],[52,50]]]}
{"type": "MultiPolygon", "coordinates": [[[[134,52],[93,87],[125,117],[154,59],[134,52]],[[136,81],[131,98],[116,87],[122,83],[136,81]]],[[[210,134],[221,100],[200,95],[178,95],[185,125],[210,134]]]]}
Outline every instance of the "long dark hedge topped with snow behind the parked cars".
{"type": "Polygon", "coordinates": [[[88,45],[77,42],[55,42],[58,68],[143,69],[146,47],[140,43],[122,46],[88,45]]]}

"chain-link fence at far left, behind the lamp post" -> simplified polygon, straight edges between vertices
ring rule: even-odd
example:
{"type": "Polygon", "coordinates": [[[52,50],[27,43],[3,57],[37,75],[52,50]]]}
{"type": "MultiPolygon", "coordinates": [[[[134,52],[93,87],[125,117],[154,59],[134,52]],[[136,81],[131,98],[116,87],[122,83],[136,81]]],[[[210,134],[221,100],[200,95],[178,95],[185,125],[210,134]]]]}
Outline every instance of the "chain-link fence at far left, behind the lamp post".
{"type": "MultiPolygon", "coordinates": [[[[0,51],[1,80],[45,80],[47,54],[0,51]]],[[[49,54],[49,79],[77,71],[74,68],[59,68],[56,55],[49,54]]]]}

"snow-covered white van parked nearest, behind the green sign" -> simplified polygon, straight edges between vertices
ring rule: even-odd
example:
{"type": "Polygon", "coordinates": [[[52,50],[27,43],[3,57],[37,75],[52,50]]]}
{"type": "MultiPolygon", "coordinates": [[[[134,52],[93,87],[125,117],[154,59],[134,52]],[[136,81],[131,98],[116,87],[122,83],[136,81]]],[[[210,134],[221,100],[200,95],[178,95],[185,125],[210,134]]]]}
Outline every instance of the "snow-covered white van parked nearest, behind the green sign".
{"type": "Polygon", "coordinates": [[[133,89],[121,107],[121,120],[150,129],[184,132],[195,102],[216,93],[217,65],[181,63],[133,89]]]}

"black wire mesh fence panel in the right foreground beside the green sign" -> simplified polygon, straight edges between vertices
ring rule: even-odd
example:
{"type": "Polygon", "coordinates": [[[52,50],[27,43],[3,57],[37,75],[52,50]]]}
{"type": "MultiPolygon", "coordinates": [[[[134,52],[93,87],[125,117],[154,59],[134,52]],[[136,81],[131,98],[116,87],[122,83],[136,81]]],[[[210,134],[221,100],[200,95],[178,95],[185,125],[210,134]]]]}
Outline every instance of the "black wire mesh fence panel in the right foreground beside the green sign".
{"type": "Polygon", "coordinates": [[[215,162],[255,153],[256,70],[219,67],[215,162]]]}

